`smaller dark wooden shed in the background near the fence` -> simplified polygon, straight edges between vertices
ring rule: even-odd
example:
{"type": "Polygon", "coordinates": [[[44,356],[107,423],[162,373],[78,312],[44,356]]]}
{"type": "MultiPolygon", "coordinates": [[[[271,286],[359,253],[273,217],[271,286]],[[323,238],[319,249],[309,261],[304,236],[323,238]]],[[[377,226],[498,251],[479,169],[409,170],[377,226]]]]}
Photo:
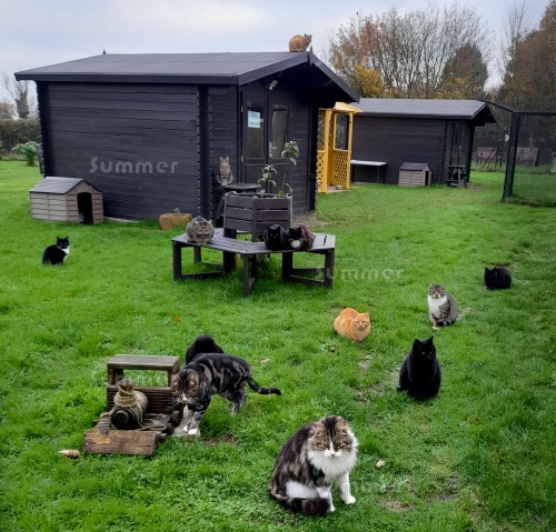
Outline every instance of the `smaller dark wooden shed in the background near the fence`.
{"type": "Polygon", "coordinates": [[[430,169],[430,183],[441,183],[450,165],[461,165],[469,175],[476,127],[495,119],[485,102],[477,100],[410,100],[361,98],[354,107],[351,157],[360,161],[384,161],[385,171],[358,167],[364,181],[396,184],[407,162],[430,169]],[[367,172],[367,173],[365,173],[367,172]]]}

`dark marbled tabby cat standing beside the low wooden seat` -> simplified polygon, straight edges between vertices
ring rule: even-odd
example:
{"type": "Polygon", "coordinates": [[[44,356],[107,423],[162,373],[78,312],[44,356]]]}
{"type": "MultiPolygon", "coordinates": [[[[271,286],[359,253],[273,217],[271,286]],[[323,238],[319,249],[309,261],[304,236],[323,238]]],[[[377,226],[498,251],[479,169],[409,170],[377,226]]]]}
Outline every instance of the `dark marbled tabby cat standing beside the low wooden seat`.
{"type": "Polygon", "coordinates": [[[231,415],[245,404],[245,385],[257,393],[276,393],[277,388],[260,388],[251,377],[251,368],[244,359],[224,353],[200,354],[172,378],[172,390],[185,403],[185,431],[195,435],[212,395],[231,401],[231,415]]]}

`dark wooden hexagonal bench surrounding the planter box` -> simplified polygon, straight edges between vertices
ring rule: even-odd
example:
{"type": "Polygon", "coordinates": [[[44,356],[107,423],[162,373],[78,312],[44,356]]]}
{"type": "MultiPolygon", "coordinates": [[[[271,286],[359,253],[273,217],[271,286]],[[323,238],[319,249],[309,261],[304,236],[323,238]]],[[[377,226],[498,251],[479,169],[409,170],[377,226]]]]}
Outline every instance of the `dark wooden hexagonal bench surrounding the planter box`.
{"type": "Polygon", "coordinates": [[[249,297],[255,280],[257,279],[257,255],[281,254],[281,278],[284,281],[299,282],[309,285],[322,285],[326,288],[331,288],[332,285],[334,252],[336,248],[336,235],[334,234],[315,233],[312,248],[306,251],[271,251],[265,245],[265,242],[239,240],[234,237],[226,235],[225,231],[221,229],[218,229],[212,237],[212,240],[206,244],[189,242],[185,233],[175,237],[171,239],[171,242],[173,255],[173,279],[176,281],[183,279],[203,279],[230,273],[236,267],[236,255],[239,255],[244,261],[244,298],[247,298],[249,297]],[[183,248],[192,248],[193,263],[205,263],[202,262],[201,257],[202,249],[221,251],[222,261],[221,263],[216,264],[217,270],[214,271],[183,273],[181,262],[181,250],[183,248]],[[295,253],[315,253],[325,255],[325,264],[324,267],[317,268],[294,268],[295,253]],[[318,273],[324,274],[322,280],[305,277],[307,274],[318,273]]]}

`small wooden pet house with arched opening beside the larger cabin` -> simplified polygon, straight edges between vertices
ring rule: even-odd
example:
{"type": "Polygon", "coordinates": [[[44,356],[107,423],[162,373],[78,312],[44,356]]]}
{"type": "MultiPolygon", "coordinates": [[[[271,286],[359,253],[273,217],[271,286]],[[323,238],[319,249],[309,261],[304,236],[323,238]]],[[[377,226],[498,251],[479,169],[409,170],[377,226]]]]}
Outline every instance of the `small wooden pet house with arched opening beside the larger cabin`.
{"type": "Polygon", "coordinates": [[[102,192],[78,178],[44,178],[30,191],[31,217],[37,220],[102,223],[102,192]]]}

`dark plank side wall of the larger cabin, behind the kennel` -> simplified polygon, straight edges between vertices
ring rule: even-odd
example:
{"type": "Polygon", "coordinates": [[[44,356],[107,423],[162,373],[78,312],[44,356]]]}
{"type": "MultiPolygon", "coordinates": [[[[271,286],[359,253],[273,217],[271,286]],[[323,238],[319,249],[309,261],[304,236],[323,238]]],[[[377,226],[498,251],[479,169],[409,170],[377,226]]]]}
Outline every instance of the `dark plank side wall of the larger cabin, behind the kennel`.
{"type": "Polygon", "coordinates": [[[50,83],[46,89],[47,174],[97,187],[108,217],[199,212],[196,87],[50,83]]]}

